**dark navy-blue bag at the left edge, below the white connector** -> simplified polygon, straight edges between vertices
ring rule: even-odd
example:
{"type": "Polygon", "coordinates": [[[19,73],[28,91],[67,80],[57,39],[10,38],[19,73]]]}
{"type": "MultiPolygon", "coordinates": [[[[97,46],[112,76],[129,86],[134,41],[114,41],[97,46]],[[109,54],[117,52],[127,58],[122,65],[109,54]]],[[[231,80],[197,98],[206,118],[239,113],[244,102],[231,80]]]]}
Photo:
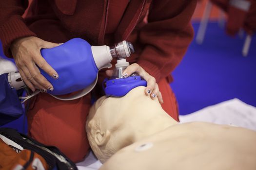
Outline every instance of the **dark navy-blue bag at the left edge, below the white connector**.
{"type": "Polygon", "coordinates": [[[20,118],[23,114],[17,91],[10,87],[7,75],[8,73],[0,75],[0,126],[20,118]]]}

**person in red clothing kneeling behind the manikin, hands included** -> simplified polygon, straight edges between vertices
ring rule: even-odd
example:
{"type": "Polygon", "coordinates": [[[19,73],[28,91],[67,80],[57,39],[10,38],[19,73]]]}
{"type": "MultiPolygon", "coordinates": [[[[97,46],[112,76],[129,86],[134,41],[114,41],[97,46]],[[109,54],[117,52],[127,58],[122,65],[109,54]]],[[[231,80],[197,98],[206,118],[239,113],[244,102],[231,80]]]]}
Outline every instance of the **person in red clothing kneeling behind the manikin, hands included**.
{"type": "MultiPolygon", "coordinates": [[[[192,40],[190,19],[196,3],[197,0],[0,0],[0,40],[4,54],[15,59],[26,85],[44,91],[54,87],[37,67],[53,79],[58,78],[58,72],[40,56],[40,49],[58,46],[74,37],[94,46],[130,41],[136,53],[127,61],[137,64],[127,68],[127,75],[135,70],[145,78],[146,92],[152,99],[163,100],[162,107],[178,120],[177,102],[169,86],[170,73],[192,40]]],[[[96,97],[103,95],[104,77],[102,70],[91,93],[96,97]]],[[[84,125],[91,94],[73,101],[59,101],[47,93],[32,98],[27,112],[29,135],[57,146],[73,161],[80,161],[89,148],[84,125]]]]}

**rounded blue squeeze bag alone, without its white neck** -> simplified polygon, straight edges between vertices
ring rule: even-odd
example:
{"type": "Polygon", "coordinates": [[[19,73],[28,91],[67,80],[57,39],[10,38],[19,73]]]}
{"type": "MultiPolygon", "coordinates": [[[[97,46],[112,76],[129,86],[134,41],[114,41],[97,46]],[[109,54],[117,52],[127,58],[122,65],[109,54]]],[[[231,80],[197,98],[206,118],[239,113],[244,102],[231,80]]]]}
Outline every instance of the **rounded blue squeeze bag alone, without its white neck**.
{"type": "Polygon", "coordinates": [[[81,39],[73,38],[58,47],[42,49],[41,55],[59,74],[58,79],[49,76],[40,69],[41,74],[54,86],[52,95],[68,94],[84,89],[97,78],[98,68],[95,64],[91,45],[81,39]]]}

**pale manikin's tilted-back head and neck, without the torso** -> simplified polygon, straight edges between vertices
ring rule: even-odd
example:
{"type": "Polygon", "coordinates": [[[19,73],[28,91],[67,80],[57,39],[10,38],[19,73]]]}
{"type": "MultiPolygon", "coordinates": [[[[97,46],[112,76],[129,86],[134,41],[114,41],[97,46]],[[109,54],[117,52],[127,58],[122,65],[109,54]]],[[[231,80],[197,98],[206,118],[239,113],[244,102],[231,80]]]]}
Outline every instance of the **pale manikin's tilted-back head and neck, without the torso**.
{"type": "Polygon", "coordinates": [[[86,132],[102,163],[121,148],[177,124],[144,90],[139,86],[121,98],[103,96],[92,106],[86,132]]]}

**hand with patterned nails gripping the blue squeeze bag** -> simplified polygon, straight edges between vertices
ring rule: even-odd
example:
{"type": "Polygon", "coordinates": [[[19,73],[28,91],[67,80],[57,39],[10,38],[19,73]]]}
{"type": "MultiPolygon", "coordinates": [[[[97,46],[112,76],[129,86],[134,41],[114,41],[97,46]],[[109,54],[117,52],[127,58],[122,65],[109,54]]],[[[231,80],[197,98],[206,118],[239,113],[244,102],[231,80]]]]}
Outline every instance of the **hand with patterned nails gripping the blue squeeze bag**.
{"type": "Polygon", "coordinates": [[[53,85],[40,73],[39,68],[51,77],[58,79],[58,73],[41,56],[41,49],[49,49],[59,44],[44,41],[35,36],[23,37],[11,44],[11,52],[24,83],[32,90],[36,88],[46,92],[53,85]],[[39,68],[38,68],[39,67],[39,68]]]}

